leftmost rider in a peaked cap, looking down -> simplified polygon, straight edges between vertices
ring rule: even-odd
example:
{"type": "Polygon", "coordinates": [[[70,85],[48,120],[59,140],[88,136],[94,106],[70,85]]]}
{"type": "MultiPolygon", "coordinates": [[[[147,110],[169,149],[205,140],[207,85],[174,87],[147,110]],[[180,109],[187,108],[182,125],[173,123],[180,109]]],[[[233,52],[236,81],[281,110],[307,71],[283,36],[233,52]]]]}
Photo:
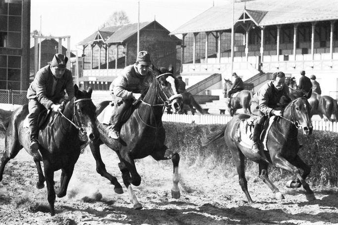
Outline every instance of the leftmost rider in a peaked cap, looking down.
{"type": "Polygon", "coordinates": [[[29,134],[31,143],[29,145],[32,153],[39,149],[38,142],[38,116],[44,109],[52,109],[55,112],[63,110],[60,104],[74,97],[73,77],[71,71],[66,69],[68,58],[62,54],[55,54],[48,65],[41,68],[27,91],[29,134]]]}

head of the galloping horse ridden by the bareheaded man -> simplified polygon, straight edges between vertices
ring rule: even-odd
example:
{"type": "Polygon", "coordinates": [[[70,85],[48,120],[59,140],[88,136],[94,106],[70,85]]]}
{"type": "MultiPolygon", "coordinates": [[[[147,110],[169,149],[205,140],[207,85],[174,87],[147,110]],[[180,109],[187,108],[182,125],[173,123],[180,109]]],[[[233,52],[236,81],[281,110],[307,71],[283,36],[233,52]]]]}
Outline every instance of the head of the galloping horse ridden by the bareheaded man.
{"type": "Polygon", "coordinates": [[[297,127],[301,127],[304,135],[312,133],[310,117],[311,106],[306,98],[300,97],[291,101],[283,110],[284,118],[290,120],[297,127]]]}

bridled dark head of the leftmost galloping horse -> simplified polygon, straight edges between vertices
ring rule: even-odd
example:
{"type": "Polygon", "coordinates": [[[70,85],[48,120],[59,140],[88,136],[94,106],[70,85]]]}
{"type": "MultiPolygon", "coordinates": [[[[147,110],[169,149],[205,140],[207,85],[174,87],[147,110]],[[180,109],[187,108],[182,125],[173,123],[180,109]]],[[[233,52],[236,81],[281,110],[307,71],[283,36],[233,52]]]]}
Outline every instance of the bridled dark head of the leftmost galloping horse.
{"type": "Polygon", "coordinates": [[[67,103],[64,110],[65,115],[72,113],[72,124],[80,131],[81,138],[86,135],[90,142],[96,141],[100,136],[95,122],[96,107],[91,99],[92,91],[91,87],[87,91],[80,91],[75,84],[74,98],[67,103]]]}

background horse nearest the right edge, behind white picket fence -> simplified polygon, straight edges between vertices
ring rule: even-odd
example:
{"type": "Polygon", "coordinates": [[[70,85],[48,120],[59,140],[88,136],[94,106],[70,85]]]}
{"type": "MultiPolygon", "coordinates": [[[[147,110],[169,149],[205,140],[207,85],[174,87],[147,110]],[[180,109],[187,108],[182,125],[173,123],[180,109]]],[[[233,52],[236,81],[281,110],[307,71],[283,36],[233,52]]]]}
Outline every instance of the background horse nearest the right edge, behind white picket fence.
{"type": "Polygon", "coordinates": [[[319,115],[323,119],[324,115],[325,119],[331,122],[338,121],[337,100],[327,95],[318,96],[317,93],[312,93],[308,101],[312,107],[310,117],[319,115]]]}

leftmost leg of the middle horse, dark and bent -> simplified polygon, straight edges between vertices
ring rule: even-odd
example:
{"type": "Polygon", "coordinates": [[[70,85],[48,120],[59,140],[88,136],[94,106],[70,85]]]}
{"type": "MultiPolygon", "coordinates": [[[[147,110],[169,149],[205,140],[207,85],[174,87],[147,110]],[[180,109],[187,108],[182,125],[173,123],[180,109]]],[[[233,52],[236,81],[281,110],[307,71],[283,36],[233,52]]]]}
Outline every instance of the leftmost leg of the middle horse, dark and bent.
{"type": "Polygon", "coordinates": [[[106,170],[106,166],[102,161],[101,153],[100,153],[100,143],[89,143],[90,150],[94,156],[94,159],[96,161],[96,171],[101,175],[109,179],[111,183],[114,185],[114,191],[116,194],[122,194],[123,189],[121,184],[117,181],[116,177],[114,177],[112,174],[108,173],[106,170]]]}

